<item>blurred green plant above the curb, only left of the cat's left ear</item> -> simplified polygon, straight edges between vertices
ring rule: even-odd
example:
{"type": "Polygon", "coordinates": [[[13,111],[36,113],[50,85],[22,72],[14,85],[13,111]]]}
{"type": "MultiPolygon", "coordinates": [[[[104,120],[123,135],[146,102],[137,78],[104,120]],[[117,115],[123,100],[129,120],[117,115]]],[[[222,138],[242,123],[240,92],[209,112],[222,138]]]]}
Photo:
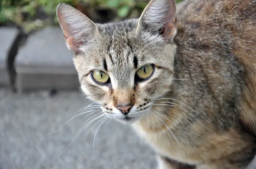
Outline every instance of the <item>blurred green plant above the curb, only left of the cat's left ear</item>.
{"type": "MultiPolygon", "coordinates": [[[[77,0],[61,1],[74,5],[77,0]]],[[[0,0],[0,23],[12,22],[30,32],[50,23],[49,18],[55,15],[58,3],[57,0],[0,0]]]]}

